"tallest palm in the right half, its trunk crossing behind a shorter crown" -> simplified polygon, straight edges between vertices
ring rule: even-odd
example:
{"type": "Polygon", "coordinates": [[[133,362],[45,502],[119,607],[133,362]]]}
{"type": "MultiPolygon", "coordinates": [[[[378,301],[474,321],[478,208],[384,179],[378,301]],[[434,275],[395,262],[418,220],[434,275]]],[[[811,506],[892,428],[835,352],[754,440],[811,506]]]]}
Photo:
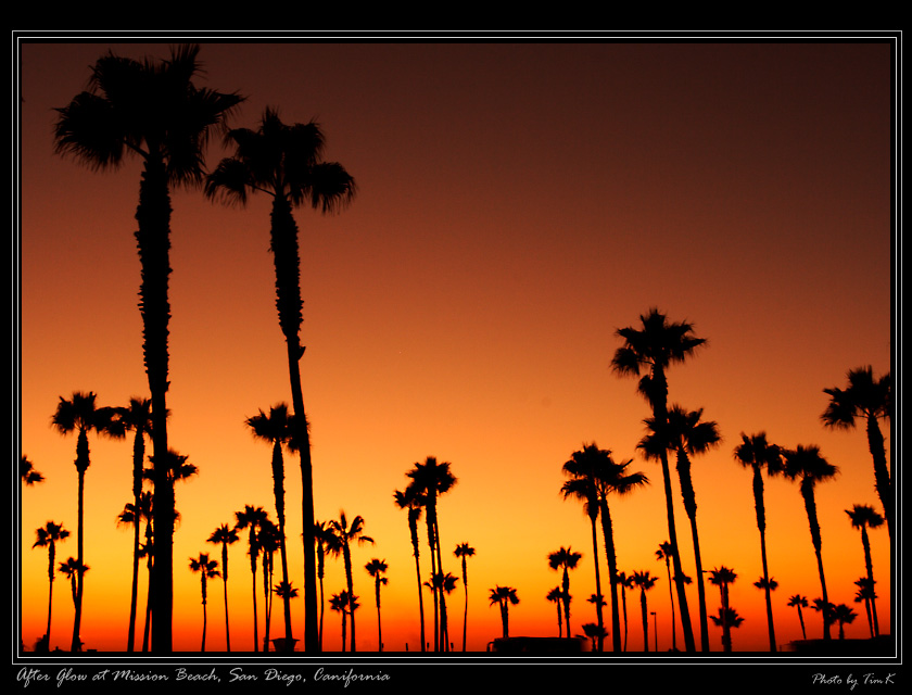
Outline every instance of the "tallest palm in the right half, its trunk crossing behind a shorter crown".
{"type": "MultiPolygon", "coordinates": [[[[638,391],[646,397],[651,409],[653,420],[661,426],[668,420],[668,367],[675,363],[683,363],[693,356],[697,349],[706,345],[706,339],[694,336],[694,326],[688,321],[669,321],[668,317],[657,308],[651,308],[639,317],[642,328],[619,328],[617,336],[624,344],[615,353],[611,367],[620,376],[637,376],[646,372],[639,379],[638,391]]],[[[673,548],[672,563],[674,577],[683,578],[681,569],[681,554],[677,547],[677,533],[674,526],[673,495],[671,491],[671,472],[668,465],[668,454],[659,452],[662,466],[662,482],[666,493],[666,514],[668,516],[669,543],[673,548]]],[[[691,626],[691,612],[687,607],[687,595],[683,581],[675,582],[677,589],[677,607],[681,611],[681,623],[684,631],[684,645],[687,652],[695,650],[694,631],[691,626]]]]}

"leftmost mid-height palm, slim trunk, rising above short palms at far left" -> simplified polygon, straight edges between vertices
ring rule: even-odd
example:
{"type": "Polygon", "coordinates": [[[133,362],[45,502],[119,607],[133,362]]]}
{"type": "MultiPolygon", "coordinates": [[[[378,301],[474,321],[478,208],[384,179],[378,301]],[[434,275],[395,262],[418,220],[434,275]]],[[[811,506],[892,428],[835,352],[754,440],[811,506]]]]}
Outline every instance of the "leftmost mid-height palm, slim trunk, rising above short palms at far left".
{"type": "MultiPolygon", "coordinates": [[[[96,394],[89,391],[84,393],[75,391],[69,401],[60,396],[56,410],[51,417],[51,427],[53,427],[61,434],[69,434],[76,432],[76,460],[73,463],[76,466],[76,475],[78,481],[77,490],[77,515],[78,521],[76,527],[76,559],[78,567],[84,567],[84,523],[83,517],[85,513],[85,489],[86,489],[86,471],[91,465],[89,458],[89,432],[94,431],[98,434],[106,434],[109,437],[123,437],[123,428],[118,427],[114,419],[114,408],[98,407],[96,405],[96,394]]],[[[79,639],[79,628],[83,619],[83,576],[76,577],[76,616],[73,619],[73,642],[71,650],[78,652],[81,647],[81,640],[79,639]]]]}

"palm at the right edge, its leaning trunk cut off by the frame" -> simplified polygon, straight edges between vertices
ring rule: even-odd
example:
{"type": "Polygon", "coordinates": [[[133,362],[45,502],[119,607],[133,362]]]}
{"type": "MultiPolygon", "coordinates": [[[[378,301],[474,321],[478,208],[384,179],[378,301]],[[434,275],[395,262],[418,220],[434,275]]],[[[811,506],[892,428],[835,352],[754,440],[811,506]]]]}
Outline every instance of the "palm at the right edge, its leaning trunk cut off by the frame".
{"type": "Polygon", "coordinates": [[[892,479],[887,468],[887,451],[884,434],[877,420],[890,417],[892,383],[888,371],[879,379],[874,379],[874,370],[869,365],[848,372],[847,389],[824,389],[829,396],[821,419],[827,427],[852,429],[857,419],[864,419],[867,430],[867,448],[874,460],[874,486],[884,506],[887,530],[892,538],[894,495],[892,479]]]}

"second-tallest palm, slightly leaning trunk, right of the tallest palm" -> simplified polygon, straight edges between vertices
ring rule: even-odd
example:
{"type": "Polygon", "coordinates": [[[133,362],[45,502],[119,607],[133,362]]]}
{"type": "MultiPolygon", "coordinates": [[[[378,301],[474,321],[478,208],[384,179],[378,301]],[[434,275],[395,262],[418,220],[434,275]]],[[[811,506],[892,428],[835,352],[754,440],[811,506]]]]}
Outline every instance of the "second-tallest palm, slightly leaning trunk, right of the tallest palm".
{"type": "Polygon", "coordinates": [[[355,195],[355,181],[335,162],[324,162],[325,138],[315,122],[286,125],[278,111],[266,109],[257,130],[238,128],[228,134],[235,155],[223,160],[206,179],[206,195],[246,203],[248,194],[273,198],[270,250],[276,269],[276,307],[286,340],[292,412],[297,416],[295,439],[301,455],[304,528],[305,650],[318,650],[314,485],[311,439],[304,410],[299,362],[302,300],[297,225],[293,210],[309,205],[324,214],[345,207],[355,195]]]}

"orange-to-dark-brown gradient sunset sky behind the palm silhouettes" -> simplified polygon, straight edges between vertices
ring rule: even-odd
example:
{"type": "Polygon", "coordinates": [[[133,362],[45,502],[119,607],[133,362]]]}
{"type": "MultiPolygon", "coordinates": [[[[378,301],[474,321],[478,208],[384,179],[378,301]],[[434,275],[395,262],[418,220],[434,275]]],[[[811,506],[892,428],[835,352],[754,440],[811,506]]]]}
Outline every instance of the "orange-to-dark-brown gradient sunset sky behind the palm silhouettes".
{"type": "MultiPolygon", "coordinates": [[[[166,58],[169,49],[36,39],[21,50],[21,453],[47,478],[22,491],[22,636],[30,648],[45,631],[48,598],[47,553],[31,549],[35,529],[62,522],[73,535],[59,559],[76,555],[76,441],[50,427],[59,397],[94,391],[101,405],[126,405],[148,390],[132,236],[140,165],[130,160],[99,174],[58,156],[53,109],[85,88],[106,51],[166,58]]],[[[495,584],[516,587],[520,598],[510,608],[511,634],[557,634],[545,595],[560,579],[547,555],[561,546],[583,554],[571,573],[574,633],[594,621],[585,602],[595,592],[588,520],[560,495],[562,464],[593,441],[616,459],[634,458],[631,468],[653,481],[616,497],[611,513],[619,569],[659,577],[649,610],[659,649],[670,648],[668,581],[655,555],[668,540],[661,471],[636,451],[649,409],[635,380],[610,369],[621,345],[615,331],[636,326],[653,306],[692,321],[709,341],[668,376],[670,401],[704,408],[724,438],[693,462],[693,475],[704,567],[738,576],[731,604],[745,622],[734,648],[768,648],[763,594],[752,585],[762,570],[751,476],[732,455],[740,432],[765,431],[785,447],[816,444],[839,467],[816,491],[827,589],[832,602],[858,612],[846,636],[867,636],[863,605],[853,603],[862,545],[845,510],[881,509],[871,456],[863,428],[828,431],[820,416],[823,389],[845,388],[849,369],[891,369],[889,42],[297,40],[205,42],[200,58],[198,84],[246,97],[232,126],[256,127],[266,106],[287,123],[316,118],[326,159],[358,185],[345,212],[302,210],[296,219],[316,517],[360,515],[376,541],[353,551],[359,650],[377,648],[364,570],[375,557],[389,564],[385,648],[420,648],[407,519],[393,491],[427,456],[449,462],[458,478],[439,505],[444,570],[460,574],[452,555],[458,543],[476,548],[470,649],[499,636],[487,599],[495,584]]],[[[225,154],[214,142],[207,165],[225,154]]],[[[173,206],[169,441],[200,469],[177,486],[174,539],[175,648],[191,652],[202,609],[189,558],[207,552],[218,559],[219,548],[205,541],[244,505],[275,518],[270,447],[244,419],[291,399],[269,200],[231,208],[200,191],[175,191],[173,206]]],[[[131,501],[131,447],[96,437],[90,446],[83,640],[121,650],[132,535],[115,521],[131,501]]],[[[891,454],[888,444],[890,462],[891,454]]],[[[673,481],[682,560],[693,576],[673,481]]],[[[300,484],[297,459],[287,454],[290,573],[303,590],[300,484]]],[[[767,508],[776,636],[785,644],[801,637],[788,597],[813,599],[820,583],[798,485],[769,481],[767,508]]],[[[887,632],[894,568],[886,527],[871,542],[887,632]]],[[[253,639],[245,551],[238,543],[229,557],[235,649],[250,649],[253,639]]],[[[600,544],[598,553],[607,594],[600,544]]],[[[327,594],[344,582],[341,560],[329,560],[327,594]]],[[[140,595],[144,585],[143,576],[140,595]]],[[[220,580],[211,582],[213,650],[225,645],[221,591],[220,580]]],[[[699,641],[695,584],[688,601],[699,641]]],[[[715,612],[710,584],[707,601],[715,612]]],[[[460,580],[447,602],[457,649],[463,605],[460,580]]],[[[431,606],[426,594],[428,635],[431,606]]],[[[303,597],[292,609],[303,637],[303,597]]],[[[638,591],[628,592],[628,611],[629,647],[639,649],[638,591]]],[[[821,636],[819,615],[809,609],[805,618],[808,636],[821,636]]],[[[59,576],[52,647],[68,648],[72,620],[59,576]]],[[[325,648],[338,650],[340,619],[328,607],[325,626],[325,648]]],[[[650,621],[650,642],[651,630],[650,621]]],[[[721,650],[721,630],[709,630],[711,648],[721,650]]],[[[279,609],[271,632],[282,632],[279,609]]]]}

